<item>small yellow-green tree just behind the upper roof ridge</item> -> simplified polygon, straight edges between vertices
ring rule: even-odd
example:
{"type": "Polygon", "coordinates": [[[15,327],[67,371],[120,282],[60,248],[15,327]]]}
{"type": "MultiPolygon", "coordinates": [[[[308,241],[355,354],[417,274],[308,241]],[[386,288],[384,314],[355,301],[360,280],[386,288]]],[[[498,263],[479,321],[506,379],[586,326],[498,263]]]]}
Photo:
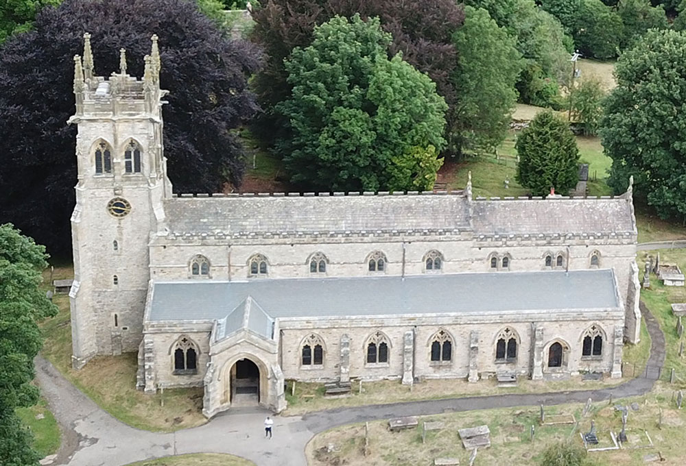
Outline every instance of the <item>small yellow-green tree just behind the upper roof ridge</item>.
{"type": "Polygon", "coordinates": [[[443,159],[438,158],[436,147],[410,147],[407,153],[391,157],[388,165],[388,189],[431,191],[442,164],[443,159]]]}

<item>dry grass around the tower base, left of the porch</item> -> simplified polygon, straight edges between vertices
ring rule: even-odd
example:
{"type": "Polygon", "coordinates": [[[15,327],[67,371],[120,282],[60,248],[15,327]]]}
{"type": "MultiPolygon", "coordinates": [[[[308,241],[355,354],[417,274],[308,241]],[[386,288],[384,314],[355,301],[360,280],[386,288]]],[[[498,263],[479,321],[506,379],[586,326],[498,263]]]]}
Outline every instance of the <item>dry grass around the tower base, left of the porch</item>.
{"type": "MultiPolygon", "coordinates": [[[[49,271],[44,276],[49,283],[49,271]]],[[[54,280],[60,278],[73,278],[71,266],[56,267],[54,280]]],[[[72,369],[69,297],[55,295],[53,301],[60,312],[40,324],[45,335],[41,354],[100,407],[120,421],[145,430],[171,432],[206,422],[200,413],[202,388],[167,389],[155,395],[137,391],[135,353],[100,356],[80,371],[72,369]]]]}

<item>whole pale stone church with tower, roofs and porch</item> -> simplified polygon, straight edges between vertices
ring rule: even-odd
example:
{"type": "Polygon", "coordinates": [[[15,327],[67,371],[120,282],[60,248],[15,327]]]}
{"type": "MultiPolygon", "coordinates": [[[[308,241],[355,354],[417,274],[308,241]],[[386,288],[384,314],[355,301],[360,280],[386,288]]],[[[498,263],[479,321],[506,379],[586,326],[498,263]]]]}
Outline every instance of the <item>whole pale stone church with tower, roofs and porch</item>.
{"type": "MultiPolygon", "coordinates": [[[[73,366],[138,352],[146,392],[279,411],[284,381],[622,375],[639,339],[637,229],[619,197],[177,195],[156,37],[137,79],[75,56],[73,366]]],[[[133,382],[132,382],[133,383],[133,382]]]]}

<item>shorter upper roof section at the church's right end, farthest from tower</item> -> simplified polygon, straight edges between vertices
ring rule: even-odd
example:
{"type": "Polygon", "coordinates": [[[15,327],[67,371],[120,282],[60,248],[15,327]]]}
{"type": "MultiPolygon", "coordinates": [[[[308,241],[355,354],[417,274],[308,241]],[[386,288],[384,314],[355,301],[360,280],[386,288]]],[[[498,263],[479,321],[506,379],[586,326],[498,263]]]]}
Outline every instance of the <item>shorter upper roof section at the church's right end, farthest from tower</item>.
{"type": "Polygon", "coordinates": [[[544,199],[475,201],[474,234],[634,232],[630,200],[544,199]]]}

